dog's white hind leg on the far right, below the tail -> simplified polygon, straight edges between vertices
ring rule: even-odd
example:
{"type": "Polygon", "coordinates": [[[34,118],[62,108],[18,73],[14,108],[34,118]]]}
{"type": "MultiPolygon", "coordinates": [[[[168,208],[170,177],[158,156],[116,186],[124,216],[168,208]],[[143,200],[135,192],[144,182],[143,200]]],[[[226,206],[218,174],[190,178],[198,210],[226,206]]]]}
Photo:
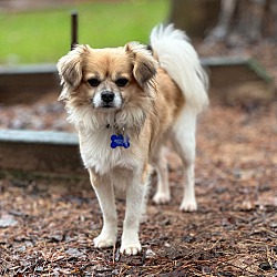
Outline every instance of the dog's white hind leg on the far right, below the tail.
{"type": "Polygon", "coordinates": [[[195,127],[196,113],[185,107],[173,127],[173,145],[185,168],[184,196],[179,206],[184,212],[197,209],[194,187],[195,127]]]}

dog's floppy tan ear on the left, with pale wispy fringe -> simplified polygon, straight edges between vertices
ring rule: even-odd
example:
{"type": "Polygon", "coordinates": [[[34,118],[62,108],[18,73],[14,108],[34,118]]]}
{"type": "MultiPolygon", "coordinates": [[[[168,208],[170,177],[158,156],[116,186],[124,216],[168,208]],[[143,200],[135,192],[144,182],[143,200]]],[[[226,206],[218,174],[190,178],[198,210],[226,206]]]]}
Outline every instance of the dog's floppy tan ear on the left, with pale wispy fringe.
{"type": "Polygon", "coordinates": [[[62,57],[58,64],[58,72],[61,78],[63,90],[59,100],[65,100],[82,80],[82,61],[86,45],[76,45],[66,55],[62,57]]]}

